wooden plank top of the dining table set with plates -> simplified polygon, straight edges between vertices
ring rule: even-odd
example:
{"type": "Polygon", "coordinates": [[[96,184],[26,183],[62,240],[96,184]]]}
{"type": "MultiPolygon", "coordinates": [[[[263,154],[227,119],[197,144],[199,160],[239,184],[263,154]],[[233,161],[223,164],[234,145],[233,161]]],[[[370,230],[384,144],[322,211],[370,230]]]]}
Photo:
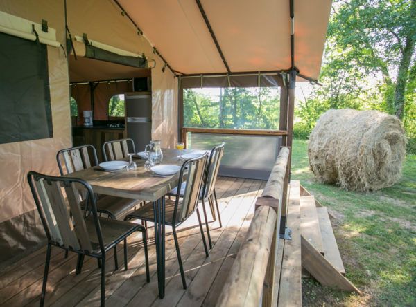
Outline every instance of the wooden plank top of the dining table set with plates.
{"type": "MultiPolygon", "coordinates": [[[[176,149],[162,149],[163,164],[182,165],[177,158],[179,151],[176,149]]],[[[184,150],[182,154],[190,153],[192,150],[184,150]]],[[[119,196],[125,198],[139,199],[143,201],[156,201],[166,195],[177,186],[179,172],[167,178],[157,177],[152,171],[144,169],[146,160],[134,158],[137,163],[135,171],[125,169],[116,172],[98,171],[94,167],[75,171],[66,177],[81,178],[89,183],[95,193],[119,196]]]]}

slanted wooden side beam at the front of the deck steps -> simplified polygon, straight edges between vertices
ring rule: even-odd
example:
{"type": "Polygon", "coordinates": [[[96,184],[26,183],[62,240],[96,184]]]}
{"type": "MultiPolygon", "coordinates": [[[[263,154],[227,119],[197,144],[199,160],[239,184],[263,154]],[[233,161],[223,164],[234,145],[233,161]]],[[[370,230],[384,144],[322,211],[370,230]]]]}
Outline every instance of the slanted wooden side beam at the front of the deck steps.
{"type": "Polygon", "coordinates": [[[302,266],[308,270],[309,273],[322,286],[329,286],[331,288],[338,288],[340,290],[356,292],[361,295],[361,291],[354,286],[346,277],[344,277],[332,264],[315,250],[313,245],[307,239],[301,236],[302,242],[302,266]]]}

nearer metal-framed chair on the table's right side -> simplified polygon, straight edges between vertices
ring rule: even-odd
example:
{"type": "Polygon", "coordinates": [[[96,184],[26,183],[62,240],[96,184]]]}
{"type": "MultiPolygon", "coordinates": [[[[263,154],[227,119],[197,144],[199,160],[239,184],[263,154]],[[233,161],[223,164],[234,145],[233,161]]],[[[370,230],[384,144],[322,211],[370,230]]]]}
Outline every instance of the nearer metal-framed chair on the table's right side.
{"type": "MultiPolygon", "coordinates": [[[[198,210],[198,196],[200,195],[206,165],[207,154],[184,162],[182,168],[180,169],[179,176],[179,185],[181,185],[182,182],[184,182],[185,178],[187,180],[187,184],[184,189],[184,196],[180,198],[180,194],[179,192],[177,192],[175,201],[172,201],[171,199],[167,198],[165,199],[164,219],[166,221],[166,225],[172,227],[173,238],[175,239],[177,261],[179,262],[180,275],[182,277],[182,286],[184,289],[187,288],[187,282],[185,281],[184,268],[182,266],[182,258],[180,255],[179,243],[177,241],[176,228],[179,225],[181,225],[184,221],[186,221],[187,218],[189,218],[189,216],[193,214],[193,212],[196,212],[198,216],[200,232],[202,235],[202,241],[204,243],[205,255],[208,257],[207,242],[205,241],[204,230],[202,229],[200,213],[198,210]],[[180,201],[180,199],[182,199],[182,201],[180,201]]],[[[132,218],[150,222],[155,221],[153,205],[144,205],[140,209],[135,210],[135,212],[132,212],[131,214],[128,214],[128,216],[126,216],[126,220],[132,218]]],[[[163,261],[164,260],[165,259],[163,259],[163,261]]]]}

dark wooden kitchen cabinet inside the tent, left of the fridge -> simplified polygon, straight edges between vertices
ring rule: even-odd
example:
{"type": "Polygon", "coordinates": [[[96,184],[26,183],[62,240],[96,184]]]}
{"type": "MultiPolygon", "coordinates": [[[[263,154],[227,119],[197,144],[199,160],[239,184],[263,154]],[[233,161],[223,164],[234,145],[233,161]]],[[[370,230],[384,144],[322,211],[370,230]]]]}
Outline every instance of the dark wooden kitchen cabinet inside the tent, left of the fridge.
{"type": "Polygon", "coordinates": [[[110,140],[125,138],[125,129],[101,127],[73,127],[73,146],[91,144],[96,148],[98,162],[103,162],[103,144],[110,140]]]}

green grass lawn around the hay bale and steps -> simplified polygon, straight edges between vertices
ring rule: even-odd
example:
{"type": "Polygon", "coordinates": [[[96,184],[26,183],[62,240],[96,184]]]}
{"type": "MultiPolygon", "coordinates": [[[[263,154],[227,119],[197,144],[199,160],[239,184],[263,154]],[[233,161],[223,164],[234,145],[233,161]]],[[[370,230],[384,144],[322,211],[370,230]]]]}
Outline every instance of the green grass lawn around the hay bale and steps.
{"type": "Polygon", "coordinates": [[[318,183],[307,141],[294,140],[292,179],[327,206],[347,278],[363,296],[303,281],[304,306],[416,306],[416,156],[394,186],[368,193],[318,183]]]}

